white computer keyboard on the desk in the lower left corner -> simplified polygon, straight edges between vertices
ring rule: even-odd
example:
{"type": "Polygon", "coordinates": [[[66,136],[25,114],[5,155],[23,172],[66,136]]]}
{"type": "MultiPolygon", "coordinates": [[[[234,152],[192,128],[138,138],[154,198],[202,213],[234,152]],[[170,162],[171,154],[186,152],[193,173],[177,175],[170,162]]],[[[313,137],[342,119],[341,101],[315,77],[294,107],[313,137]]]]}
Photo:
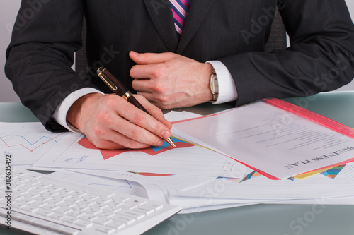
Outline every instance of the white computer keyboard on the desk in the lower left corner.
{"type": "Polygon", "coordinates": [[[142,234],[181,210],[23,169],[11,172],[8,200],[5,179],[1,169],[0,224],[10,203],[11,227],[33,234],[142,234]]]}

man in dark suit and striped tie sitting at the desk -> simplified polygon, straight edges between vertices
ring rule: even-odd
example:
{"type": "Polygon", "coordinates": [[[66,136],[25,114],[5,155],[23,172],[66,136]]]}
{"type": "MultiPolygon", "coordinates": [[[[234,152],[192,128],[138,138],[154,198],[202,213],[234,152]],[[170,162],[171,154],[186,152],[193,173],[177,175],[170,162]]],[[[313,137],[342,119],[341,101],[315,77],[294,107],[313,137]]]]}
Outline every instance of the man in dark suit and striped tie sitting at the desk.
{"type": "Polygon", "coordinates": [[[161,145],[171,123],[156,107],[313,95],[354,77],[344,0],[182,0],[182,14],[176,1],[23,1],[6,75],[46,128],[78,128],[103,148],[161,145]],[[275,6],[291,47],[266,53],[275,6]],[[70,66],[83,16],[90,69],[77,76],[70,66]],[[152,116],[104,95],[110,90],[94,76],[100,66],[134,88],[152,116]],[[210,89],[216,79],[218,94],[210,89]]]}

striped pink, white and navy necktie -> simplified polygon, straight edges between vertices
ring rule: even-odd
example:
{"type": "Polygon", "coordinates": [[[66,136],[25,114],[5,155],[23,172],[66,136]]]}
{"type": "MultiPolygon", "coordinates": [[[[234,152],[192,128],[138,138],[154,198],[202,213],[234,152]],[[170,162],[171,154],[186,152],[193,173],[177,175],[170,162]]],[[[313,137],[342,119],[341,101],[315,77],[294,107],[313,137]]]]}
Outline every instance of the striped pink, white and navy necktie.
{"type": "Polygon", "coordinates": [[[187,20],[187,15],[190,9],[190,1],[192,0],[170,0],[178,38],[181,38],[185,20],[187,20]]]}

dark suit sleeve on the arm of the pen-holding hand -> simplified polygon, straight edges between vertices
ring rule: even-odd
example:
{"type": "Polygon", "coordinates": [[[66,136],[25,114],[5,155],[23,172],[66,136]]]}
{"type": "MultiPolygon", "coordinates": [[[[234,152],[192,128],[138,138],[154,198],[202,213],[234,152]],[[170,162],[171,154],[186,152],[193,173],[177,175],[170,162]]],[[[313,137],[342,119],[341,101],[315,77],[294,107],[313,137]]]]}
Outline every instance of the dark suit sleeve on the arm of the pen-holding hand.
{"type": "Polygon", "coordinates": [[[83,12],[79,0],[22,1],[6,51],[6,76],[50,131],[66,131],[52,114],[71,92],[88,87],[71,68],[81,47],[83,12]]]}

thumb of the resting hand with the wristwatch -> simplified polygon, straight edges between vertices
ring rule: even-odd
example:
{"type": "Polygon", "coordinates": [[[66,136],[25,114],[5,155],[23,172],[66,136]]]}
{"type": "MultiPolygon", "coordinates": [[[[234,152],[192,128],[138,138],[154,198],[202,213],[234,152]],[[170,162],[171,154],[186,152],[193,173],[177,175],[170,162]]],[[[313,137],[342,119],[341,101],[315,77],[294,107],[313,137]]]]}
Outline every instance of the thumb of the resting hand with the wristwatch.
{"type": "Polygon", "coordinates": [[[171,52],[164,53],[137,53],[131,51],[129,53],[130,59],[137,64],[159,64],[168,61],[177,56],[177,54],[171,52]]]}

